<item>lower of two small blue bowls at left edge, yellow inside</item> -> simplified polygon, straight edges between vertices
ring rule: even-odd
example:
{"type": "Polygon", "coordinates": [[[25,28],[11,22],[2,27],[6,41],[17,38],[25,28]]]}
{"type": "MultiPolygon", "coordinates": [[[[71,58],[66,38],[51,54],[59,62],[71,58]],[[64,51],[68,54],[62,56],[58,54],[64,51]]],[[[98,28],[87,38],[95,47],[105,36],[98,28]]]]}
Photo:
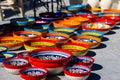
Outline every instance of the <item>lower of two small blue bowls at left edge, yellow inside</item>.
{"type": "Polygon", "coordinates": [[[8,58],[13,58],[15,57],[16,54],[14,53],[8,53],[8,52],[3,52],[3,53],[0,53],[0,66],[3,66],[2,65],[2,62],[8,58]]]}

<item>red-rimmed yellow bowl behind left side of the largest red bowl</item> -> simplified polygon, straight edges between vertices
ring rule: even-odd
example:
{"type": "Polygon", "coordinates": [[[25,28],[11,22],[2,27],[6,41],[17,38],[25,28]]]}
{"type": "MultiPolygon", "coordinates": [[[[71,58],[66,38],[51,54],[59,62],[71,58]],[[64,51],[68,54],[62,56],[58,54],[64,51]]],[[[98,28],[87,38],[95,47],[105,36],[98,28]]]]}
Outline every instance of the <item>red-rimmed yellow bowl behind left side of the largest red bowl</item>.
{"type": "Polygon", "coordinates": [[[53,48],[56,47],[56,42],[52,40],[44,40],[44,39],[30,40],[24,43],[24,47],[28,51],[46,48],[46,47],[53,48]]]}

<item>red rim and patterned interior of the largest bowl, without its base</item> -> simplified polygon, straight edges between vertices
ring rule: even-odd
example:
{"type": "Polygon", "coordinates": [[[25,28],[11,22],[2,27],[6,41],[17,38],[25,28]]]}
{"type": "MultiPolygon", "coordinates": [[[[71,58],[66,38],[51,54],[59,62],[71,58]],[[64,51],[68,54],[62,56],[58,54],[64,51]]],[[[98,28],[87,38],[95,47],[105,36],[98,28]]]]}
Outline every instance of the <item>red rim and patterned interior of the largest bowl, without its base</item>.
{"type": "Polygon", "coordinates": [[[43,48],[33,50],[28,54],[29,60],[43,63],[66,63],[72,57],[72,52],[58,48],[43,48]]]}

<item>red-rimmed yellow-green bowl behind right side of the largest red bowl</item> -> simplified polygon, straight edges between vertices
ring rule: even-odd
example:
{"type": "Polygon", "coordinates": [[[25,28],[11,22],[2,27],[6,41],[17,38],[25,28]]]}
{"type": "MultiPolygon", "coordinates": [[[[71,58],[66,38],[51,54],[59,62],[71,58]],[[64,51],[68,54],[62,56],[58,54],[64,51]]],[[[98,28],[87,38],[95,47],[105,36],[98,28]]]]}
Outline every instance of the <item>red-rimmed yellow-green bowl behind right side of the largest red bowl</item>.
{"type": "Polygon", "coordinates": [[[60,48],[71,51],[73,55],[85,55],[89,49],[88,45],[72,42],[62,44],[60,48]]]}

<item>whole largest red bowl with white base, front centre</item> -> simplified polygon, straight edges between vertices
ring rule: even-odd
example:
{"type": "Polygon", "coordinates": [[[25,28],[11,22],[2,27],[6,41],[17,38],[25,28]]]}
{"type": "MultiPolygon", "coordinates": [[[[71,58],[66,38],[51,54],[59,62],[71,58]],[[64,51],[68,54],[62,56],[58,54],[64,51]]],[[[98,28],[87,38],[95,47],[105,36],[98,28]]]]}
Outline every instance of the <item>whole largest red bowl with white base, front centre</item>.
{"type": "Polygon", "coordinates": [[[58,48],[44,48],[31,51],[28,57],[33,66],[45,67],[49,74],[59,74],[72,58],[72,53],[58,48]]]}

